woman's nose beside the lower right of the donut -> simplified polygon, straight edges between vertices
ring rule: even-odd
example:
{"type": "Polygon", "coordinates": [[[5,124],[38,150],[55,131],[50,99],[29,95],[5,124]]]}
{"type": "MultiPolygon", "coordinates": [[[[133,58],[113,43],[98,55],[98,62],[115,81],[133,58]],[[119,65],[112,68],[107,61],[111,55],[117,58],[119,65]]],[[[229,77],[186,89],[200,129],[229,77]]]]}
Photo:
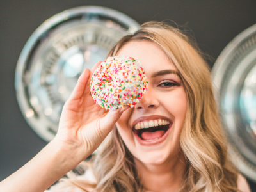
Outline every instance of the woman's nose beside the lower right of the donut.
{"type": "Polygon", "coordinates": [[[136,104],[135,108],[138,110],[144,109],[154,109],[159,106],[159,102],[157,100],[157,95],[154,92],[153,88],[148,86],[147,92],[145,92],[144,97],[140,100],[138,104],[136,104]]]}

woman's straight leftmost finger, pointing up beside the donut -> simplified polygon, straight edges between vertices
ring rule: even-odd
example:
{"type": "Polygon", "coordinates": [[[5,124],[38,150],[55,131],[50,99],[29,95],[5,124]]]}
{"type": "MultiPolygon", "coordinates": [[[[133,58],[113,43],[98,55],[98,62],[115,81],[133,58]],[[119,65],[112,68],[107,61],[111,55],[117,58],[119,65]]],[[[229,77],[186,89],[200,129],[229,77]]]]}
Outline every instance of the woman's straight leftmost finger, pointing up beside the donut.
{"type": "Polygon", "coordinates": [[[84,72],[81,74],[81,76],[79,77],[77,84],[76,84],[73,92],[71,93],[69,99],[76,100],[76,99],[79,99],[82,97],[89,77],[90,77],[90,70],[88,68],[86,68],[84,70],[84,72]]]}

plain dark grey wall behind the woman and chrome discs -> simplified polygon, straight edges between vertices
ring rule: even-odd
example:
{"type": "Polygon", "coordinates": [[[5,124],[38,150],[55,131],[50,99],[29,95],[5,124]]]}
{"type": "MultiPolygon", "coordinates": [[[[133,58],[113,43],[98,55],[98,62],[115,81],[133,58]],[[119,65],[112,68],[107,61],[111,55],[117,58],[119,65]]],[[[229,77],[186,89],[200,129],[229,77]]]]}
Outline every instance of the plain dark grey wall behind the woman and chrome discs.
{"type": "MultiPolygon", "coordinates": [[[[212,67],[224,47],[256,23],[256,1],[182,0],[0,0],[0,181],[18,170],[45,145],[20,113],[14,88],[17,60],[29,36],[42,22],[69,8],[98,5],[113,8],[142,24],[173,20],[191,29],[212,67]]],[[[248,180],[252,191],[256,184],[248,180]]]]}

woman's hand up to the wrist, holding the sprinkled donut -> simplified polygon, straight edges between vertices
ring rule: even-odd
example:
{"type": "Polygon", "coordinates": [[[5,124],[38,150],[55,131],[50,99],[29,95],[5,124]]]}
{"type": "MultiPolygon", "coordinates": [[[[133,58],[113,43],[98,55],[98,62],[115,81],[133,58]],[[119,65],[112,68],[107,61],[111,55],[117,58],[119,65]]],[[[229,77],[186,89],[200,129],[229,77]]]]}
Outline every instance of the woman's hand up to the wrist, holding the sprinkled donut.
{"type": "Polygon", "coordinates": [[[76,147],[81,151],[81,159],[86,158],[99,147],[113,129],[122,112],[128,107],[106,111],[95,104],[90,95],[90,79],[94,70],[100,65],[96,63],[92,70],[84,70],[78,79],[74,91],[63,107],[58,133],[54,141],[65,147],[76,147]]]}

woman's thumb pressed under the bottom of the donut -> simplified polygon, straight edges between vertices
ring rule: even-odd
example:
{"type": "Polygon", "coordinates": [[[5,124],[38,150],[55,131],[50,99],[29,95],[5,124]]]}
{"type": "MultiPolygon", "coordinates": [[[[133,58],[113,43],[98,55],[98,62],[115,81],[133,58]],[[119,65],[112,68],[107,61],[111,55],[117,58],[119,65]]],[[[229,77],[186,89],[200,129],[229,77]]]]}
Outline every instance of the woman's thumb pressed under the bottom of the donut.
{"type": "Polygon", "coordinates": [[[129,106],[124,106],[124,108],[116,109],[115,111],[110,110],[106,116],[102,119],[102,129],[104,131],[111,131],[117,122],[118,118],[129,109],[129,106]]]}

